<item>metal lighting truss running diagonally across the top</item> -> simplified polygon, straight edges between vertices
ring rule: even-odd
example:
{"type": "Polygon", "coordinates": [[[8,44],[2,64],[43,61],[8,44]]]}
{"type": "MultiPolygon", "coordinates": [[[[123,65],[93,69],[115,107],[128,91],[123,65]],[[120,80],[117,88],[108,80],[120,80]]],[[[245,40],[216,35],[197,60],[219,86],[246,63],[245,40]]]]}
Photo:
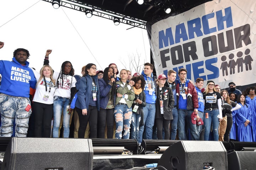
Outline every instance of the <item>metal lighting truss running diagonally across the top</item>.
{"type": "MultiPolygon", "coordinates": [[[[46,2],[52,3],[53,0],[43,0],[46,2]]],[[[79,2],[77,0],[60,0],[60,6],[64,6],[73,10],[85,12],[86,10],[91,10],[92,15],[99,16],[102,18],[106,18],[109,20],[114,20],[114,18],[118,18],[120,23],[128,24],[133,27],[138,27],[138,28],[143,28],[146,29],[146,21],[139,20],[137,18],[129,17],[122,15],[120,13],[108,11],[108,10],[103,10],[98,7],[89,5],[89,4],[84,4],[82,2],[79,2]]],[[[130,29],[130,28],[128,28],[130,29]]]]}

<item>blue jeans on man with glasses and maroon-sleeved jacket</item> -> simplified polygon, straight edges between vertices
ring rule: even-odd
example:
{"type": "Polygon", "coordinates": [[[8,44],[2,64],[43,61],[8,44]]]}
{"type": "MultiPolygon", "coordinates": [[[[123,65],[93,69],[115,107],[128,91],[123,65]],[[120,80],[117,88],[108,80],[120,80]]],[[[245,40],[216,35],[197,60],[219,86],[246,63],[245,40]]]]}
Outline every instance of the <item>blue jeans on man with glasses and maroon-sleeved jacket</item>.
{"type": "Polygon", "coordinates": [[[196,124],[192,124],[192,121],[191,121],[192,113],[193,113],[193,110],[178,109],[178,137],[180,140],[187,140],[185,123],[187,123],[187,126],[190,130],[191,139],[199,140],[196,124]]]}

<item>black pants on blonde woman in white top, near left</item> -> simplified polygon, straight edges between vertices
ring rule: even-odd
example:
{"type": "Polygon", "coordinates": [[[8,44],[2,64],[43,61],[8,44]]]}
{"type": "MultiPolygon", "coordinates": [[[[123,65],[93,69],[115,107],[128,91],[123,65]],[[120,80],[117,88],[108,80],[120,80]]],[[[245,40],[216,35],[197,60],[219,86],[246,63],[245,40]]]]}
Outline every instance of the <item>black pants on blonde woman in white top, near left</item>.
{"type": "Polygon", "coordinates": [[[34,136],[50,137],[53,117],[53,104],[33,102],[34,136]]]}

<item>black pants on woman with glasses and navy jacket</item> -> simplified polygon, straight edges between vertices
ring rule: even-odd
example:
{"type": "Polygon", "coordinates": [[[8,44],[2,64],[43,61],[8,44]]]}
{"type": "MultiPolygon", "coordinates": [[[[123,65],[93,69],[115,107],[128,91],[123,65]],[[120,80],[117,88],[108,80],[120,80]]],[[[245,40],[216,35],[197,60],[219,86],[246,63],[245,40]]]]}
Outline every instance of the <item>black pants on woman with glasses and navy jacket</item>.
{"type": "Polygon", "coordinates": [[[95,106],[90,106],[87,108],[87,115],[82,115],[82,110],[76,108],[79,117],[79,129],[78,129],[78,138],[84,138],[85,130],[89,122],[90,126],[90,138],[97,138],[97,117],[98,110],[95,106]]]}

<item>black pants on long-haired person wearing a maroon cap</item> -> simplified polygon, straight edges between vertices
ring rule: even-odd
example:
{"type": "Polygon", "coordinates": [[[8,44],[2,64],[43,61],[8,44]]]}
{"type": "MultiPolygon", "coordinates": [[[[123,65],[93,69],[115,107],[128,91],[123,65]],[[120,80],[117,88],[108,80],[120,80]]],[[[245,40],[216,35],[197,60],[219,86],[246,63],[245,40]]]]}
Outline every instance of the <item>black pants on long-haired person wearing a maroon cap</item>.
{"type": "Polygon", "coordinates": [[[163,126],[164,126],[164,131],[165,131],[165,139],[170,139],[170,123],[171,123],[171,120],[164,119],[164,116],[162,116],[162,115],[161,115],[160,119],[156,119],[158,139],[162,139],[163,126]]]}

